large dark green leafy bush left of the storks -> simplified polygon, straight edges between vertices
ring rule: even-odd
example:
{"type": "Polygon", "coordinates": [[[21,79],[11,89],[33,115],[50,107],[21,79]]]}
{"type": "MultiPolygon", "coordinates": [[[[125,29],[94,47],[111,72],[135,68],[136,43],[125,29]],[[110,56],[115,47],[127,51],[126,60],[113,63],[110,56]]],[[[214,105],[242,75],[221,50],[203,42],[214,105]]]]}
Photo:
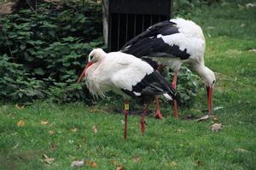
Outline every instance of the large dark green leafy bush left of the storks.
{"type": "Polygon", "coordinates": [[[25,5],[0,18],[1,99],[90,98],[74,82],[90,50],[103,45],[101,5],[41,2],[36,10],[25,5]]]}

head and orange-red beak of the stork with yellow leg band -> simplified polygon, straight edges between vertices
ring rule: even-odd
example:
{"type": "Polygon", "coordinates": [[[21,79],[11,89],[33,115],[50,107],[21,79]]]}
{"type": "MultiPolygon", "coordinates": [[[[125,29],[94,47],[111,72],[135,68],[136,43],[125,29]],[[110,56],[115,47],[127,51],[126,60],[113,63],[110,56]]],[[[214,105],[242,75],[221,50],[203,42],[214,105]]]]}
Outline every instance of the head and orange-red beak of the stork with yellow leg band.
{"type": "Polygon", "coordinates": [[[82,72],[81,76],[79,77],[78,82],[82,82],[83,77],[85,77],[86,69],[88,69],[94,63],[100,61],[105,56],[105,54],[106,53],[102,50],[102,48],[96,48],[90,52],[90,54],[88,56],[88,62],[85,65],[84,71],[82,72]]]}

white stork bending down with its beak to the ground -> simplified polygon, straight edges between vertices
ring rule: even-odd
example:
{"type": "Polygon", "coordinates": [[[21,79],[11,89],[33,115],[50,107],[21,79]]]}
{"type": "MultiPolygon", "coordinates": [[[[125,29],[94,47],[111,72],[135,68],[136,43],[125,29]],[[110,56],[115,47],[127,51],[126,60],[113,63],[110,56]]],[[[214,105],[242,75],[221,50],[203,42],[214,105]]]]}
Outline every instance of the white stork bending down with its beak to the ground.
{"type": "MultiPolygon", "coordinates": [[[[210,115],[212,113],[212,88],[216,78],[214,73],[205,66],[205,47],[206,42],[201,27],[191,20],[177,18],[150,26],[147,31],[127,42],[120,51],[144,58],[152,66],[155,66],[156,61],[172,68],[175,71],[172,88],[175,89],[177,71],[183,63],[188,63],[207,86],[208,115],[210,115]]],[[[177,117],[177,101],[173,102],[174,115],[177,117]]],[[[158,105],[157,97],[156,104],[158,105]]],[[[156,116],[161,118],[159,106],[156,109],[156,116]]]]}

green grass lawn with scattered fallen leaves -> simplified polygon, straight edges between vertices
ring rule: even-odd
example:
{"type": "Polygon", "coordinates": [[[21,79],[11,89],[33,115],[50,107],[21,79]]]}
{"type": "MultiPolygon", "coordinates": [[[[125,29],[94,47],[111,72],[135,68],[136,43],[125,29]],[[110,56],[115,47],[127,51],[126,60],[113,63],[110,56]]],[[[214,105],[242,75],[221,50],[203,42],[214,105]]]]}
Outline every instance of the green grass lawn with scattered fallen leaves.
{"type": "MultiPolygon", "coordinates": [[[[240,7],[223,3],[189,14],[203,27],[206,65],[217,75],[213,107],[221,107],[214,112],[220,132],[210,130],[211,121],[176,120],[170,107],[163,121],[147,118],[145,136],[139,117],[129,116],[124,141],[121,114],[83,104],[5,104],[0,169],[73,169],[79,160],[85,161],[80,169],[256,169],[256,8],[237,2],[240,7]]],[[[206,99],[201,89],[194,110],[180,108],[180,114],[207,109],[206,99]]]]}

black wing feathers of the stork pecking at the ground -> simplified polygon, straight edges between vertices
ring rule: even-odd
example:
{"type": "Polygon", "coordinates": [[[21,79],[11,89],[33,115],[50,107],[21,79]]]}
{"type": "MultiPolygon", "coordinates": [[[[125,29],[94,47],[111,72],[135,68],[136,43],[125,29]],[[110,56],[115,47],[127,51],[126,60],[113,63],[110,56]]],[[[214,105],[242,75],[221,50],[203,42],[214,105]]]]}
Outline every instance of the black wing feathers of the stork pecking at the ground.
{"type": "Polygon", "coordinates": [[[174,22],[169,20],[160,22],[150,26],[147,31],[144,31],[137,37],[132,38],[121,48],[121,52],[135,55],[138,58],[150,56],[189,59],[190,54],[187,53],[187,49],[180,50],[177,45],[170,46],[162,38],[157,37],[159,34],[167,36],[176,33],[179,33],[179,31],[174,22]]]}

